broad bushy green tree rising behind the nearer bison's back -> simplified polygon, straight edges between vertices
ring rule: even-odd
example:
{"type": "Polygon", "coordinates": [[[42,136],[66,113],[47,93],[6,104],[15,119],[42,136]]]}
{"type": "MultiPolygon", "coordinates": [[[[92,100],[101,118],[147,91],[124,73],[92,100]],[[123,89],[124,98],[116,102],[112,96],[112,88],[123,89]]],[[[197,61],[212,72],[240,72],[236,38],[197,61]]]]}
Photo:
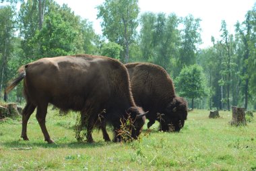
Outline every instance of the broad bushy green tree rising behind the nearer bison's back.
{"type": "Polygon", "coordinates": [[[93,53],[96,34],[92,24],[81,20],[67,5],[54,1],[46,3],[44,23],[38,28],[34,1],[22,3],[20,9],[20,34],[27,61],[42,57],[55,57],[75,53],[93,53]]]}

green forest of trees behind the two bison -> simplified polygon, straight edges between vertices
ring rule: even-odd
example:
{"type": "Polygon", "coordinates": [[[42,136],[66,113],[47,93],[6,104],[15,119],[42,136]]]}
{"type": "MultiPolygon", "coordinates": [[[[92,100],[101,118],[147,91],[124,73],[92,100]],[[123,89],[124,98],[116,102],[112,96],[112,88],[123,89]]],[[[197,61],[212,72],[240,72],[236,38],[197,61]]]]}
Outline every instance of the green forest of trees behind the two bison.
{"type": "MultiPolygon", "coordinates": [[[[139,13],[136,0],[106,0],[97,7],[102,34],[68,5],[53,0],[7,0],[0,3],[0,98],[21,65],[43,57],[92,54],[123,63],[161,65],[172,77],[189,108],[256,108],[256,3],[243,22],[220,38],[202,43],[200,18],[175,13],[139,13]],[[19,7],[18,7],[19,5],[19,7]],[[140,28],[140,29],[137,29],[140,28]]],[[[22,84],[8,101],[22,103],[22,84]]]]}

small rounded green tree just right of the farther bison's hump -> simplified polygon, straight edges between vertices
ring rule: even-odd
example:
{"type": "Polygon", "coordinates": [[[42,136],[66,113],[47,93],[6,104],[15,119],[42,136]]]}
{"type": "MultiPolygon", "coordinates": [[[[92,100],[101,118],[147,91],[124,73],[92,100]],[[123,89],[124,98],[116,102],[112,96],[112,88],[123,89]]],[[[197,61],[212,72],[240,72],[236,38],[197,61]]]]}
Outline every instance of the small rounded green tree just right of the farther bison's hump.
{"type": "Polygon", "coordinates": [[[199,65],[185,66],[180,75],[175,79],[179,96],[191,98],[191,106],[194,108],[195,98],[206,96],[205,79],[203,70],[199,65]]]}

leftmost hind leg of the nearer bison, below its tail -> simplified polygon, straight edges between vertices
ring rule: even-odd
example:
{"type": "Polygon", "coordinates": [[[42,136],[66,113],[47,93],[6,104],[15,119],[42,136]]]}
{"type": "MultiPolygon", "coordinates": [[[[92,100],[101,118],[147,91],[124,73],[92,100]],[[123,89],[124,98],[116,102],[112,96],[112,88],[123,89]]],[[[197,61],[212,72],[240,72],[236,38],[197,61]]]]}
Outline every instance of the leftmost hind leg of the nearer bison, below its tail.
{"type": "Polygon", "coordinates": [[[28,119],[30,118],[31,114],[34,112],[34,109],[36,106],[31,103],[27,103],[25,108],[22,110],[22,137],[24,140],[28,140],[27,136],[27,125],[28,125],[28,119]]]}

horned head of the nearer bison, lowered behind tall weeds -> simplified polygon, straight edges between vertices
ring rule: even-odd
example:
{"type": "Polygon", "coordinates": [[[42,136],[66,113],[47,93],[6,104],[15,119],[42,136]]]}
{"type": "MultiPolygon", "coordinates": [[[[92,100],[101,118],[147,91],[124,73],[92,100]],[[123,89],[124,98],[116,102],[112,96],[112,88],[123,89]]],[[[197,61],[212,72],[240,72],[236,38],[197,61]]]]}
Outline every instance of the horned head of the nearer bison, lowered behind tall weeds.
{"type": "Polygon", "coordinates": [[[127,114],[131,116],[131,121],[133,122],[133,127],[131,129],[131,137],[137,139],[141,133],[142,127],[146,121],[146,114],[140,107],[130,107],[127,110],[127,114]]]}

